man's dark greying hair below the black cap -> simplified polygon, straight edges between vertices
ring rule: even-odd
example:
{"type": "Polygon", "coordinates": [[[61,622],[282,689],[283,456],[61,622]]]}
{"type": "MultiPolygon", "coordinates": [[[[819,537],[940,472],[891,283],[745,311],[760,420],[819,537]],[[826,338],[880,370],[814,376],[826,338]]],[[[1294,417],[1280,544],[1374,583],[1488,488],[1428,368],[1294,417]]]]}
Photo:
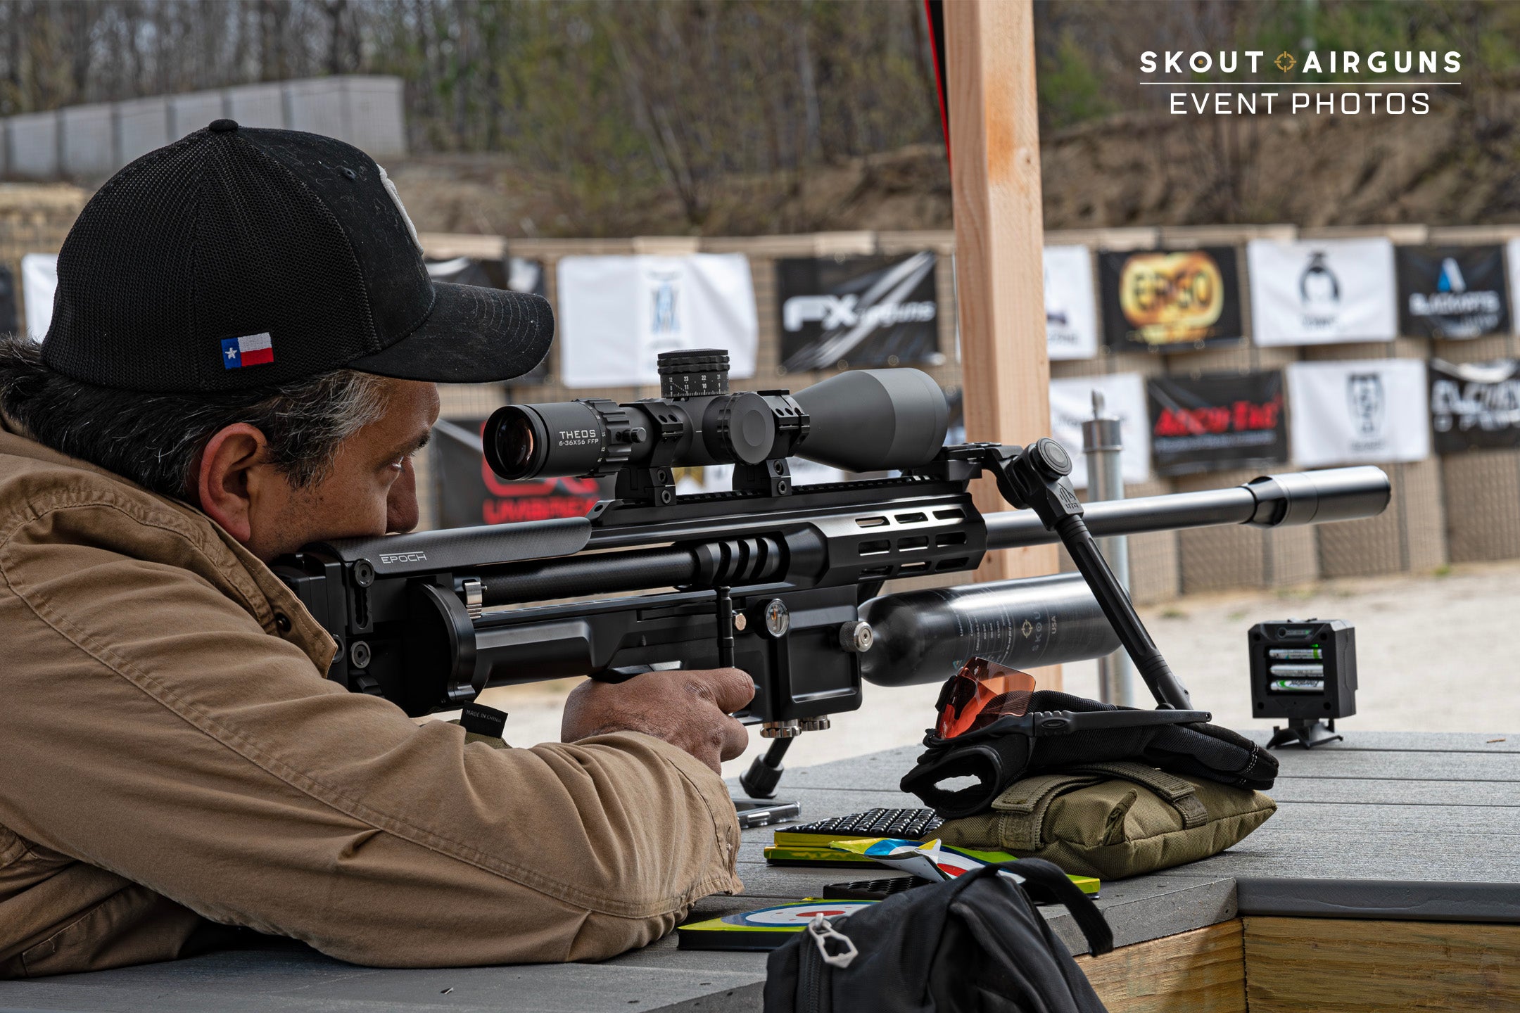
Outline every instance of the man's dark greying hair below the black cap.
{"type": "Polygon", "coordinates": [[[192,497],[196,454],[228,425],[258,428],[271,463],[304,488],[385,409],[385,380],[351,369],[204,395],[97,387],[50,369],[27,336],[0,336],[0,412],[46,447],[181,500],[192,497]]]}

